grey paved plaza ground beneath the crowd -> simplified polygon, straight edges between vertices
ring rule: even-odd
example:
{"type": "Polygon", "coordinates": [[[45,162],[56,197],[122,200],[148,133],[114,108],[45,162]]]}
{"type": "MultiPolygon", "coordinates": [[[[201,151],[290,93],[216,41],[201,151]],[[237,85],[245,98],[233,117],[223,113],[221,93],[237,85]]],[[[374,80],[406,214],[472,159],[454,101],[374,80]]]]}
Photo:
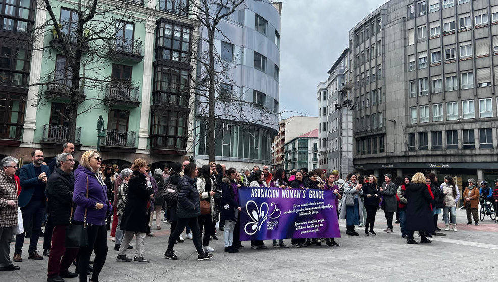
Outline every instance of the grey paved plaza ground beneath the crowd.
{"type": "MultiPolygon", "coordinates": [[[[243,242],[244,249],[229,254],[223,252],[223,234],[218,231],[219,240],[210,244],[216,250],[211,261],[197,261],[188,239],[175,245],[179,260],[165,259],[169,225],[161,223],[163,229],[154,230],[155,237],[146,239],[144,257],[151,263],[117,262],[114,243],[109,241],[99,281],[492,281],[498,275],[498,224],[489,217],[479,226],[466,225],[465,211],[457,210],[458,232],[444,231],[440,220],[439,227],[447,236],[435,236],[432,244],[417,245],[405,243],[397,224],[394,233],[384,233],[382,211],[376,220],[377,236],[365,236],[360,228],[356,228],[360,236],[346,236],[345,221],[340,220],[340,247],[274,249],[267,240],[267,250],[251,250],[250,242],[243,242]]],[[[40,238],[38,244],[41,251],[42,241],[40,238]]],[[[23,262],[15,263],[21,269],[0,272],[0,281],[46,281],[48,258],[28,260],[28,242],[23,247],[23,262]]],[[[286,243],[290,245],[290,239],[286,243]]],[[[133,257],[133,251],[127,255],[133,257]]],[[[13,253],[14,243],[11,256],[13,253]]],[[[74,266],[70,270],[74,271],[74,266]]],[[[78,278],[65,280],[75,282],[78,278]]]]}

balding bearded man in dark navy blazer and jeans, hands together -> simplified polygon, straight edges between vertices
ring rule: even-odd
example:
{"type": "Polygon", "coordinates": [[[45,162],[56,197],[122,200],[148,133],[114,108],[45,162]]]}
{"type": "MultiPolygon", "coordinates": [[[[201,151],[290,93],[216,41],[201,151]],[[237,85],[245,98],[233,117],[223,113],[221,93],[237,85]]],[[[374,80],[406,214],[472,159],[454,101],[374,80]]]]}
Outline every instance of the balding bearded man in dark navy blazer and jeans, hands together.
{"type": "MultiPolygon", "coordinates": [[[[23,222],[32,222],[32,234],[29,242],[28,259],[42,260],[43,257],[36,252],[36,245],[41,231],[41,222],[46,213],[45,208],[45,186],[50,171],[48,166],[43,165],[43,152],[35,150],[31,153],[30,164],[21,167],[19,179],[21,180],[21,194],[19,194],[18,203],[21,207],[23,222]]],[[[25,228],[27,226],[24,226],[25,228]]],[[[24,243],[25,233],[16,237],[16,247],[13,261],[22,261],[21,253],[24,243]]]]}

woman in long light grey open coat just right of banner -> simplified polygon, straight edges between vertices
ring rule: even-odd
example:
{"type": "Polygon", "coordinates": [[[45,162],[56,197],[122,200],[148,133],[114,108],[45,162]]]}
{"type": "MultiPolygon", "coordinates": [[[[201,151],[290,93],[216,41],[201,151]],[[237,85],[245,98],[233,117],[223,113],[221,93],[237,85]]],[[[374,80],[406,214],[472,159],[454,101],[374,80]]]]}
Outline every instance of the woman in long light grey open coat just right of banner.
{"type": "Polygon", "coordinates": [[[362,195],[362,184],[357,182],[356,174],[348,174],[344,184],[344,203],[340,209],[340,219],[346,220],[346,235],[359,235],[355,231],[355,225],[363,221],[363,201],[358,197],[362,195]]]}

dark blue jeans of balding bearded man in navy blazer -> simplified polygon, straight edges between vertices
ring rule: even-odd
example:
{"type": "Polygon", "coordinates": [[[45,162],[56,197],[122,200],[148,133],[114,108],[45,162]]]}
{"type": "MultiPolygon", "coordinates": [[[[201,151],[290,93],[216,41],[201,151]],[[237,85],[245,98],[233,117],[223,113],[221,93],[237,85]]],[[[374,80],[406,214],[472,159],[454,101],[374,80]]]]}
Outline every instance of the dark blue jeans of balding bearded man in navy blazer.
{"type": "MultiPolygon", "coordinates": [[[[21,208],[21,212],[23,215],[23,223],[26,222],[27,224],[28,222],[32,222],[33,224],[28,248],[28,253],[33,253],[36,252],[36,245],[38,245],[38,238],[40,237],[41,232],[41,222],[46,213],[45,202],[32,200],[25,207],[21,208]]],[[[24,229],[27,229],[26,225],[24,227],[24,229]]],[[[26,233],[24,232],[16,236],[16,246],[14,248],[16,254],[22,253],[25,234],[26,233]]]]}

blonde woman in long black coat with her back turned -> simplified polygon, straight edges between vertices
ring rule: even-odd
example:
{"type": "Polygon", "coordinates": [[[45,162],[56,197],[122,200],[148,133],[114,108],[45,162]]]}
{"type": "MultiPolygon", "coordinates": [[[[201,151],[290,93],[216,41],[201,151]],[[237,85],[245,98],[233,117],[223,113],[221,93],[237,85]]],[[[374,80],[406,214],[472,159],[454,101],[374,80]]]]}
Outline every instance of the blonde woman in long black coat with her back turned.
{"type": "Polygon", "coordinates": [[[432,241],[427,239],[425,234],[432,234],[434,232],[432,216],[434,195],[429,185],[426,184],[423,173],[417,172],[413,175],[412,182],[406,184],[404,196],[407,199],[407,243],[417,244],[417,241],[413,239],[415,231],[419,231],[420,237],[422,237],[420,243],[431,243],[432,241]]]}

